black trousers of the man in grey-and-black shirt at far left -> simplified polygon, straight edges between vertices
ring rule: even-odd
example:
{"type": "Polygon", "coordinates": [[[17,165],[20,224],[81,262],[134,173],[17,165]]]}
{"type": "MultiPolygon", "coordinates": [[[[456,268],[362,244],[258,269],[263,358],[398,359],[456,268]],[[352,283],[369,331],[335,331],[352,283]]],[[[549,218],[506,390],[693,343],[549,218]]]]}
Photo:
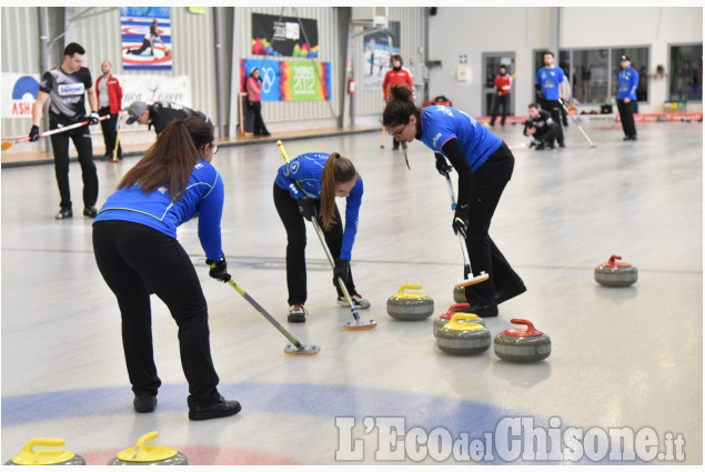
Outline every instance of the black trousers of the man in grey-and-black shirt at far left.
{"type": "MultiPolygon", "coordinates": [[[[59,128],[59,122],[52,117],[49,120],[49,128],[59,128]]],[[[98,200],[98,171],[93,162],[93,141],[89,127],[80,127],[63,133],[51,135],[51,145],[54,152],[54,171],[62,209],[71,208],[71,189],[69,185],[69,140],[79,153],[81,174],[83,177],[83,205],[94,207],[98,200]]]]}

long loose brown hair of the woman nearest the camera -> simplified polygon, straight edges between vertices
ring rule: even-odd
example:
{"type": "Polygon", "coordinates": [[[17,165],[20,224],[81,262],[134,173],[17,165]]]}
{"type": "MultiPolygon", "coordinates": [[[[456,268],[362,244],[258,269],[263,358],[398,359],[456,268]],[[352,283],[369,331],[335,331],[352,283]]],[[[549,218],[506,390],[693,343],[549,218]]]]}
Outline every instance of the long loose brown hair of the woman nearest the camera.
{"type": "Polygon", "coordinates": [[[137,183],[144,193],[167,187],[180,200],[199,159],[199,149],[213,141],[213,127],[200,118],[173,120],[157,138],[144,157],[124,174],[118,189],[137,183]]]}

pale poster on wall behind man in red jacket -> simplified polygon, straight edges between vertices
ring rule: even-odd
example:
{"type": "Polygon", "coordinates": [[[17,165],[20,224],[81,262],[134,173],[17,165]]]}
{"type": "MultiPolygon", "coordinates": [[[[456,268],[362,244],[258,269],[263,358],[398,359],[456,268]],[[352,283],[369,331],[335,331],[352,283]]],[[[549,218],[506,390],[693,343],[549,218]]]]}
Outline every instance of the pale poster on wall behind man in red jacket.
{"type": "Polygon", "coordinates": [[[390,21],[389,28],[363,37],[362,77],[364,90],[382,93],[384,76],[392,68],[391,57],[401,53],[400,22],[390,21]]]}

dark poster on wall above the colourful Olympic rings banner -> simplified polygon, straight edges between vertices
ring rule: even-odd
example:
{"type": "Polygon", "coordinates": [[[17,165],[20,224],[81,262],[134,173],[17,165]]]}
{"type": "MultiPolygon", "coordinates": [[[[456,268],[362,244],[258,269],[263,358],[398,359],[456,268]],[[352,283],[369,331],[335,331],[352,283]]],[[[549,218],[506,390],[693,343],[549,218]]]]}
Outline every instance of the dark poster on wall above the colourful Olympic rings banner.
{"type": "Polygon", "coordinates": [[[252,13],[252,53],[318,58],[318,22],[306,18],[252,13]]]}

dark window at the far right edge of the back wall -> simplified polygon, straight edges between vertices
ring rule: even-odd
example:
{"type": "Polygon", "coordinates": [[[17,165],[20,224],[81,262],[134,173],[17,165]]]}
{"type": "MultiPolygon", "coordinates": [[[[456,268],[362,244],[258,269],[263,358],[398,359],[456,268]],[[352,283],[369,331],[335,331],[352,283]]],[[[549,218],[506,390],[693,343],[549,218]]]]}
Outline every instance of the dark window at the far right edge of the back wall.
{"type": "Polygon", "coordinates": [[[703,44],[672,46],[668,100],[703,100],[703,44]]]}

